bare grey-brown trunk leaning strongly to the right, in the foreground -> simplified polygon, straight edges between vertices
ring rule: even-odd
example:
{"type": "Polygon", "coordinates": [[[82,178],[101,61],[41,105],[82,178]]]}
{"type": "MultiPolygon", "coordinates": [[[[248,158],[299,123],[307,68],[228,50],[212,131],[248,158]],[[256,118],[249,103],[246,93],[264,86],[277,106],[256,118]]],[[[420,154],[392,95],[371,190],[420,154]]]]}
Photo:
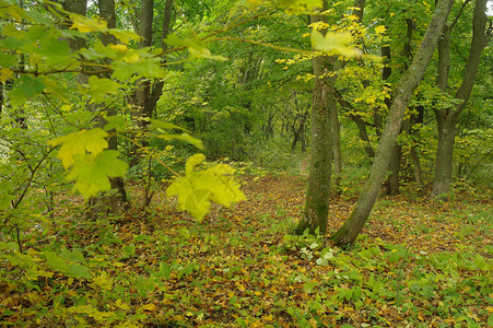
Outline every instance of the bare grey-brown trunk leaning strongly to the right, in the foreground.
{"type": "Polygon", "coordinates": [[[390,151],[397,142],[408,102],[414,90],[418,87],[430,63],[453,2],[454,0],[438,1],[426,33],[421,40],[420,47],[409,69],[396,85],[387,124],[384,133],[382,134],[380,142],[378,143],[369,177],[363,187],[363,191],[360,195],[350,218],[331,237],[337,246],[348,246],[353,244],[368,219],[378,197],[382,184],[385,180],[391,157],[390,151]]]}

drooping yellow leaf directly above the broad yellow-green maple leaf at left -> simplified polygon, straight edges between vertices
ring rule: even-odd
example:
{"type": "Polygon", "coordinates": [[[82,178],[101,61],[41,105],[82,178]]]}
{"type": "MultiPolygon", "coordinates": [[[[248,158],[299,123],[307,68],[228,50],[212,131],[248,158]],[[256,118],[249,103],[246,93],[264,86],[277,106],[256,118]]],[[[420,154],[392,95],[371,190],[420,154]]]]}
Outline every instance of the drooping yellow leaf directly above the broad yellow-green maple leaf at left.
{"type": "Polygon", "coordinates": [[[75,155],[87,152],[97,155],[108,148],[108,142],[105,139],[107,136],[108,133],[99,128],[81,130],[50,140],[48,144],[52,147],[61,145],[57,157],[61,160],[64,168],[69,168],[73,164],[75,155]]]}

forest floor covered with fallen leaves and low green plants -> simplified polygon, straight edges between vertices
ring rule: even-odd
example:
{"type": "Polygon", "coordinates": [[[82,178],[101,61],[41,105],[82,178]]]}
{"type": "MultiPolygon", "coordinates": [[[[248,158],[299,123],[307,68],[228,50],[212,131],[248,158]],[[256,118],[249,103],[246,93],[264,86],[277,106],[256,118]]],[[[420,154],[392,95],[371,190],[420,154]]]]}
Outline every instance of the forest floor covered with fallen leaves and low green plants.
{"type": "MultiPolygon", "coordinates": [[[[164,191],[109,220],[66,212],[24,259],[3,250],[0,326],[493,326],[491,199],[382,197],[342,250],[289,234],[305,179],[245,177],[247,201],[200,224],[164,191]]],[[[354,203],[331,200],[328,236],[354,203]]]]}

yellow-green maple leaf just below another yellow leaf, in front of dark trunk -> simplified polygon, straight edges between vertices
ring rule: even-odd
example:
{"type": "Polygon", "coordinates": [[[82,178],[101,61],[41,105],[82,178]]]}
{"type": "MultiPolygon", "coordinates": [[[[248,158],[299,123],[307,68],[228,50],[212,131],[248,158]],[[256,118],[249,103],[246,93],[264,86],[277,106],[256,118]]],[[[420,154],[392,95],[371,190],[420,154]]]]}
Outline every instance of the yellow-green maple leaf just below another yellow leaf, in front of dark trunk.
{"type": "Polygon", "coordinates": [[[85,200],[111,188],[108,177],[124,176],[128,164],[118,159],[119,152],[107,150],[93,154],[79,154],[67,174],[67,179],[75,179],[74,191],[85,200]]]}

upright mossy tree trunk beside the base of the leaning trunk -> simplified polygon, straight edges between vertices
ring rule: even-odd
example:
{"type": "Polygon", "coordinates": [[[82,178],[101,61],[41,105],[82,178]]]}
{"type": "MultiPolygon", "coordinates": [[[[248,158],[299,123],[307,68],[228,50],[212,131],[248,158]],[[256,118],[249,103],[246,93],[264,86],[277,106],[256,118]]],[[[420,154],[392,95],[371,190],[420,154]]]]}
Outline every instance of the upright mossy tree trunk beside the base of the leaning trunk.
{"type": "MultiPolygon", "coordinates": [[[[322,11],[327,10],[327,1],[324,1],[322,11]]],[[[325,16],[314,15],[312,23],[322,22],[325,16]]],[[[325,33],[325,32],[322,32],[325,33]]],[[[313,59],[314,68],[314,95],[312,105],[312,138],[310,163],[306,202],[303,218],[296,226],[295,233],[303,234],[305,230],[324,235],[327,231],[329,214],[330,174],[332,166],[332,126],[331,113],[326,102],[325,91],[328,79],[326,56],[317,56],[313,59]]],[[[331,78],[334,80],[333,78],[331,78]]],[[[332,102],[336,99],[332,97],[332,102]]]]}

